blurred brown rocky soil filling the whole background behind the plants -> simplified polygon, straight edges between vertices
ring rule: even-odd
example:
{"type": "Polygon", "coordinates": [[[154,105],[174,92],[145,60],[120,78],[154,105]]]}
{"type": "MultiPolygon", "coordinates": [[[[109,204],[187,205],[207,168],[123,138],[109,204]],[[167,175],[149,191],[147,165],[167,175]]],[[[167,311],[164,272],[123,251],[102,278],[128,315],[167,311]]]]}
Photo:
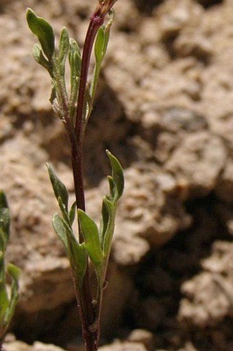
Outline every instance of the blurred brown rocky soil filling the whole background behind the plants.
{"type": "MultiPolygon", "coordinates": [[[[69,144],[49,104],[49,77],[32,58],[27,7],[56,37],[65,25],[82,47],[93,0],[0,3],[0,188],[12,214],[8,259],[22,269],[10,330],[17,341],[8,336],[5,350],[81,351],[45,168],[49,161],[73,199],[69,144]]],[[[114,8],[85,140],[90,216],[98,220],[107,191],[104,150],[125,169],[101,350],[233,351],[233,2],[119,0],[114,8]]]]}

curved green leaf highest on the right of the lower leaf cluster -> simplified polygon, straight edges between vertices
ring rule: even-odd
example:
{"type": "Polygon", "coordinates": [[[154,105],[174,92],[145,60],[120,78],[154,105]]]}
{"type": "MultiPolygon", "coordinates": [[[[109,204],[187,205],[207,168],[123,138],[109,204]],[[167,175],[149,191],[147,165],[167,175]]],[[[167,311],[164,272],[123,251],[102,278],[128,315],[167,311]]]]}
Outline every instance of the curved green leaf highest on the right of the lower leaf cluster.
{"type": "Polygon", "coordinates": [[[112,178],[109,178],[108,181],[110,183],[110,197],[111,201],[118,201],[123,194],[124,190],[124,176],[123,169],[121,167],[121,163],[116,159],[114,155],[111,154],[110,151],[106,150],[108,158],[112,167],[112,178]]]}

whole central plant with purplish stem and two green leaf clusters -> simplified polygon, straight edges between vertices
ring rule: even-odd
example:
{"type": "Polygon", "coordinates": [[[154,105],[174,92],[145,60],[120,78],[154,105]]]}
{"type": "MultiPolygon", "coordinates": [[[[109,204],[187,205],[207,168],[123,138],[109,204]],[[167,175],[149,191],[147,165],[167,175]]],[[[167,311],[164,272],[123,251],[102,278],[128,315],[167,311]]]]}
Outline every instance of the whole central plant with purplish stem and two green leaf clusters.
{"type": "Polygon", "coordinates": [[[117,203],[123,193],[123,170],[118,159],[107,152],[111,176],[108,176],[109,194],[103,197],[100,227],[86,214],[84,193],[83,141],[86,124],[93,109],[99,72],[106,55],[110,28],[114,18],[112,6],[116,0],[99,0],[86,32],[84,47],[73,38],[69,38],[66,27],[60,32],[58,47],[51,25],[27,9],[27,23],[39,44],[34,45],[33,56],[37,63],[47,69],[51,78],[50,101],[69,137],[71,146],[71,164],[76,201],[69,204],[66,186],[56,176],[53,168],[47,165],[49,178],[60,207],[60,214],[53,216],[52,224],[56,234],[64,245],[69,258],[77,298],[77,308],[82,322],[82,335],[86,351],[96,351],[99,342],[99,324],[103,288],[106,283],[106,271],[110,256],[110,247],[114,231],[117,203]],[[94,52],[95,67],[90,82],[90,57],[94,52]],[[70,89],[66,89],[65,63],[69,61],[70,89]],[[77,214],[77,216],[76,216],[77,214]],[[73,222],[77,218],[78,232],[73,231],[73,222]],[[95,269],[97,286],[90,291],[88,261],[95,269]]]}

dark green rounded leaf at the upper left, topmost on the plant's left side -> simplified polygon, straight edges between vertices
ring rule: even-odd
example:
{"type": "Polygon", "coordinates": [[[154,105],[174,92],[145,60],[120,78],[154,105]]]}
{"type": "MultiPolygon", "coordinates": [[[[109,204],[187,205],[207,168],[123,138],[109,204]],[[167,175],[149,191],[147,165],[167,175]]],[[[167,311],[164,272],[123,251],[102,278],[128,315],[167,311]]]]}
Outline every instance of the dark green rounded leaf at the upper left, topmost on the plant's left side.
{"type": "Polygon", "coordinates": [[[45,56],[51,62],[55,51],[53,28],[45,19],[36,16],[30,8],[27,8],[26,18],[29,29],[38,37],[45,56]]]}

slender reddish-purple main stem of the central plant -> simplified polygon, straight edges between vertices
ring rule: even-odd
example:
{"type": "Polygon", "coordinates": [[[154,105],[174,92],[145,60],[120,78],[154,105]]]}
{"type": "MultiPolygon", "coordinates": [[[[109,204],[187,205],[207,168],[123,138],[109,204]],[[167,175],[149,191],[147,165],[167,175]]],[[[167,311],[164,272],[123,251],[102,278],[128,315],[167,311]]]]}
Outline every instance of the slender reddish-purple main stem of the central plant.
{"type": "MultiPolygon", "coordinates": [[[[73,178],[75,183],[75,196],[77,208],[85,211],[84,196],[84,165],[83,165],[83,138],[86,121],[86,84],[88,79],[88,70],[90,65],[90,56],[93,51],[95,37],[99,27],[103,25],[106,14],[116,0],[106,0],[99,2],[95,12],[90,16],[90,23],[86,33],[84,49],[82,53],[82,65],[79,78],[79,93],[77,98],[77,115],[75,119],[75,130],[70,134],[73,178]]],[[[73,129],[73,128],[72,128],[73,129]]],[[[79,226],[79,242],[83,242],[84,238],[79,226]]],[[[76,291],[77,293],[77,291],[76,291]]],[[[88,269],[84,275],[84,282],[81,293],[77,293],[77,305],[79,315],[82,319],[82,335],[86,343],[86,351],[97,351],[99,341],[99,312],[98,308],[94,308],[90,293],[89,273],[88,269]],[[80,310],[81,309],[81,310],[80,310]],[[96,324],[96,328],[91,328],[96,324]]]]}

